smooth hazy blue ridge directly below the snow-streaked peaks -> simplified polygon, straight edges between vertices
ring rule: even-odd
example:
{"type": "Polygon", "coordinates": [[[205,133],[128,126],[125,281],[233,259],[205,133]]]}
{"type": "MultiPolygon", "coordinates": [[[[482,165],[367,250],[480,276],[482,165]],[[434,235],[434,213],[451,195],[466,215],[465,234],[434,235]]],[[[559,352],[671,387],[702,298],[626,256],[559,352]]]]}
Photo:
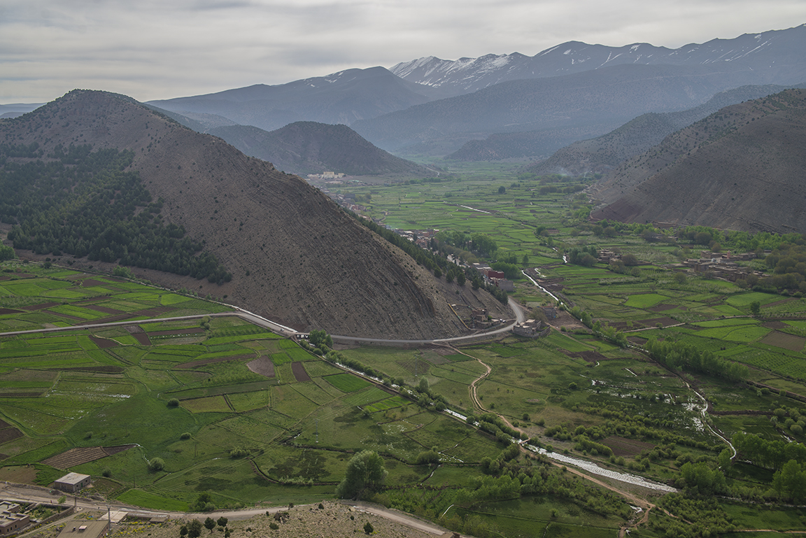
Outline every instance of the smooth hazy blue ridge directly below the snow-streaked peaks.
{"type": "MultiPolygon", "coordinates": [[[[587,139],[647,112],[685,110],[714,93],[756,81],[758,73],[710,66],[616,65],[563,77],[502,82],[475,93],[430,101],[355,122],[365,139],[405,153],[414,144],[441,142],[456,151],[493,133],[574,128],[587,139]],[[446,142],[447,141],[447,142],[446,142]]],[[[546,138],[530,155],[550,155],[573,139],[546,138]]],[[[451,152],[447,151],[447,152],[451,152]]]]}

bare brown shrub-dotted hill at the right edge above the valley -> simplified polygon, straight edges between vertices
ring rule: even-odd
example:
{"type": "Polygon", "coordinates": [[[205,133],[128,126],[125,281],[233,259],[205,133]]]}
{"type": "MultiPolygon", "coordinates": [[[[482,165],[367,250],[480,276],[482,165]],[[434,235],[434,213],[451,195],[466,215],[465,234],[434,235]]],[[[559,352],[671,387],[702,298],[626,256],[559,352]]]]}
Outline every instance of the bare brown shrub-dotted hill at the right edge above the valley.
{"type": "Polygon", "coordinates": [[[806,90],[725,107],[592,186],[591,217],[806,232],[806,90]]]}

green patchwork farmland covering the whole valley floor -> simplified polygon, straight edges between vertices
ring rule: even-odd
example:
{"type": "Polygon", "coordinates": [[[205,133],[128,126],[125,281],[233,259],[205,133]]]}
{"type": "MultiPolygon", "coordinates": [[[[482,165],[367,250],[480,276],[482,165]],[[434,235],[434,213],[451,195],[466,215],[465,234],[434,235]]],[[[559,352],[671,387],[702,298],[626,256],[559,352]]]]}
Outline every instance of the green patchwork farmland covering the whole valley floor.
{"type": "MultiPolygon", "coordinates": [[[[392,228],[488,234],[496,259],[517,267],[515,300],[533,312],[554,304],[520,275],[525,269],[561,297],[549,336],[501,334],[454,343],[459,350],[339,347],[324,360],[237,317],[146,319],[158,307],[160,317],[227,310],[196,296],[10,261],[0,266],[8,275],[0,280],[0,308],[10,312],[0,314],[0,332],[125,316],[151,343],[121,326],[0,337],[0,418],[8,426],[0,428],[2,465],[36,464],[39,480],[62,470],[92,474],[104,495],[184,511],[200,492],[210,492],[217,507],[317,503],[334,495],[351,457],[369,449],[380,453],[392,487],[366,499],[455,532],[615,536],[634,519],[633,500],[546,457],[509,449],[510,437],[524,437],[679,486],[675,497],[611,482],[674,515],[653,510],[632,536],[677,536],[680,520],[702,523],[713,536],[806,524],[800,512],[775,506],[793,502],[775,492],[775,470],[721,461],[728,445],[707,427],[726,438],[806,441],[800,291],[779,295],[688,271],[680,262],[706,246],[685,230],[650,230],[664,239],[652,242],[638,226],[589,222],[579,193],[588,179],[534,177],[515,163],[439,166],[432,181],[355,181],[339,193],[363,197],[365,213],[392,228]],[[634,255],[638,265],[563,263],[563,254],[588,246],[634,255]],[[87,278],[98,282],[83,286],[87,278]],[[183,332],[197,328],[203,330],[183,332]],[[153,334],[160,331],[171,334],[153,334]],[[709,362],[679,366],[683,359],[674,355],[664,365],[642,352],[650,339],[691,346],[709,362]],[[264,375],[247,367],[258,358],[271,362],[264,375]],[[750,366],[746,379],[708,370],[714,358],[750,366]],[[383,385],[334,365],[339,361],[371,367],[383,385]],[[306,379],[299,363],[310,381],[297,381],[306,379]],[[700,395],[709,403],[705,419],[700,395]],[[472,416],[480,428],[436,411],[442,408],[472,416]],[[42,463],[69,449],[117,445],[135,446],[58,469],[42,463]],[[422,463],[434,453],[438,466],[422,463]],[[148,468],[156,458],[162,470],[148,468]],[[722,474],[724,486],[692,491],[681,478],[687,463],[722,474]],[[712,503],[715,495],[749,503],[712,503]],[[769,504],[762,511],[757,503],[769,504]],[[726,529],[728,518],[733,527],[726,529]]],[[[457,252],[467,262],[495,261],[467,243],[457,252]]],[[[766,269],[759,260],[740,267],[766,269]]],[[[705,536],[696,532],[691,536],[705,536]]]]}

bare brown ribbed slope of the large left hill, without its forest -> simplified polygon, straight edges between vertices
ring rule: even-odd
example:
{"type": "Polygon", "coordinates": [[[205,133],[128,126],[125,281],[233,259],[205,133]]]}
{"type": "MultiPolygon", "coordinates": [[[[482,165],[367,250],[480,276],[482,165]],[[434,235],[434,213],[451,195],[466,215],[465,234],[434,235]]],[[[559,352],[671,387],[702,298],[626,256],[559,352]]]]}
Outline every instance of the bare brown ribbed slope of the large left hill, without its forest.
{"type": "MultiPolygon", "coordinates": [[[[2,120],[0,144],[38,144],[37,155],[45,161],[71,144],[133,153],[122,172],[136,172],[152,199],[160,201],[159,220],[184,229],[232,275],[230,282],[216,284],[134,270],[166,287],[226,296],[227,302],[297,329],[374,337],[461,333],[447,296],[451,302],[487,304],[496,315],[504,312],[492,296],[469,286],[456,288],[457,296],[297,176],[129,97],[74,90],[30,114],[2,120]]],[[[11,156],[3,165],[19,159],[11,156]]],[[[115,263],[93,264],[108,270],[115,263]]]]}

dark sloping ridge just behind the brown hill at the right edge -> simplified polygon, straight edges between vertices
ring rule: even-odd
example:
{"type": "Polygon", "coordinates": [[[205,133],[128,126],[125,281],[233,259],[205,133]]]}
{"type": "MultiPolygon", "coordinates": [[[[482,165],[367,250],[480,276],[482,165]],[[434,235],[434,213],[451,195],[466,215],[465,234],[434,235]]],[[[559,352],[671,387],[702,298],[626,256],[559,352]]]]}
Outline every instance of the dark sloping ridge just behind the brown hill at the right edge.
{"type": "MultiPolygon", "coordinates": [[[[642,114],[608,134],[602,134],[595,139],[580,140],[563,147],[550,158],[534,163],[528,171],[538,175],[570,174],[571,176],[609,172],[618,163],[661,143],[675,130],[689,126],[708,114],[713,114],[725,106],[766,97],[784,89],[786,88],[776,85],[742,86],[717,93],[708,102],[693,109],[665,114],[654,112],[642,114]]],[[[488,141],[492,142],[492,139],[491,136],[488,141]]]]}

